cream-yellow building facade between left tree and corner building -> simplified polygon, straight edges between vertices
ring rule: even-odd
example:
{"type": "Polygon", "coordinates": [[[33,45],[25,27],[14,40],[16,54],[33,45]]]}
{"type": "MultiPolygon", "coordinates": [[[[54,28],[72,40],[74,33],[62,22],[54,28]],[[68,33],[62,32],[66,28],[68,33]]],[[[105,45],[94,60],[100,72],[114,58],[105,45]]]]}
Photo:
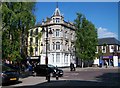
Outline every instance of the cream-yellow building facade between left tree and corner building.
{"type": "Polygon", "coordinates": [[[41,40],[41,30],[40,26],[35,26],[31,28],[28,33],[28,60],[33,60],[40,62],[42,40],[41,40]]]}

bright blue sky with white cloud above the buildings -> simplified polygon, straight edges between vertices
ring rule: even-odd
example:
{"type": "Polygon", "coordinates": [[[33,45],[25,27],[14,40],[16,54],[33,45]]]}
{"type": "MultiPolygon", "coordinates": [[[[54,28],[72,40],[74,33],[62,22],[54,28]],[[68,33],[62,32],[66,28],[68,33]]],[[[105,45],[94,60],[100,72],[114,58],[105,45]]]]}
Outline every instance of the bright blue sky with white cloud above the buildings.
{"type": "MultiPolygon", "coordinates": [[[[76,13],[82,13],[98,31],[98,38],[115,37],[118,39],[117,2],[58,2],[65,21],[74,22],[76,13]]],[[[56,2],[37,2],[35,7],[36,23],[51,17],[56,2]]]]}

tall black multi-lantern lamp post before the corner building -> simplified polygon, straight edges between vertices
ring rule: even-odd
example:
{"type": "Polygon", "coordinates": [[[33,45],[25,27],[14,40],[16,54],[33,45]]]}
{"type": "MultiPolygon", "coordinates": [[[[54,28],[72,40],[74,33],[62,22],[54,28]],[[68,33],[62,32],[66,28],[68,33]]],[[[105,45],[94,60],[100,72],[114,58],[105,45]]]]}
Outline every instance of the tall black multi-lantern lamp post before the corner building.
{"type": "Polygon", "coordinates": [[[46,75],[46,80],[48,80],[48,82],[50,81],[50,74],[49,74],[49,70],[48,70],[48,34],[52,34],[52,30],[50,29],[50,31],[48,32],[48,27],[46,27],[46,30],[44,29],[44,27],[42,28],[42,32],[46,32],[46,57],[45,57],[45,64],[47,66],[47,75],[46,75]]]}

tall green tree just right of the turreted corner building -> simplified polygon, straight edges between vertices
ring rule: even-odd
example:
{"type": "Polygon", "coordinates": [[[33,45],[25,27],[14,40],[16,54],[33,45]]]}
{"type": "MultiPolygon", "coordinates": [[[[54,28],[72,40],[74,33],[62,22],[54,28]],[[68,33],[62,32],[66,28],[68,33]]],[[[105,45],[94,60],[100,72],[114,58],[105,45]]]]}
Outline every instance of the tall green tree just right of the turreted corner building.
{"type": "Polygon", "coordinates": [[[82,67],[84,61],[95,59],[95,51],[97,45],[97,32],[95,26],[88,21],[84,15],[77,13],[75,19],[76,27],[76,55],[82,61],[82,67]]]}

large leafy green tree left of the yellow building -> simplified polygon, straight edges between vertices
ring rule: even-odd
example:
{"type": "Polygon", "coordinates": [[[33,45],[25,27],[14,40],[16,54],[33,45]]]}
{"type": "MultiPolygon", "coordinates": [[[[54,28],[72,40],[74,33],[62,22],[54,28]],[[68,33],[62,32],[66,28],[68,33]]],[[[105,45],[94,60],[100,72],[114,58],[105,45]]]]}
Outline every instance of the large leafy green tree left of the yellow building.
{"type": "Polygon", "coordinates": [[[12,61],[26,58],[28,30],[35,23],[34,5],[33,2],[2,3],[3,58],[12,61]]]}

